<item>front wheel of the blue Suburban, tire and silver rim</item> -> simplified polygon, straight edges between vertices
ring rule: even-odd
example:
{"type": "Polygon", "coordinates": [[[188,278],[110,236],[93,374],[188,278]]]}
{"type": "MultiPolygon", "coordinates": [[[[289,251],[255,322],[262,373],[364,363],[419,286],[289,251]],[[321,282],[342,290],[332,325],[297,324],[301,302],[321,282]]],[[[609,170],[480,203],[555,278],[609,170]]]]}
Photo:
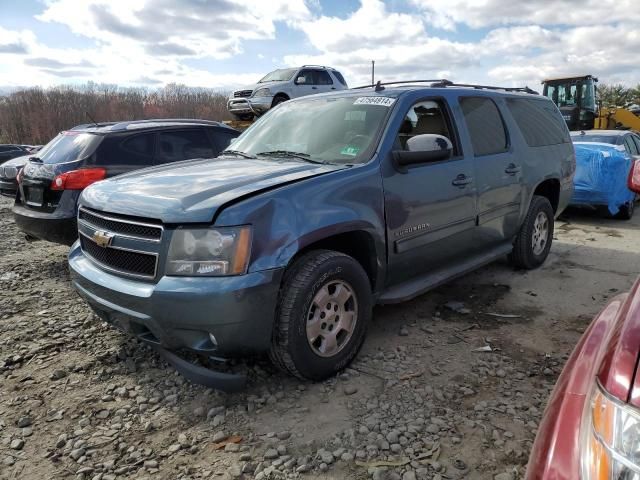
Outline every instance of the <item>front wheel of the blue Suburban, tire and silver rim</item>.
{"type": "Polygon", "coordinates": [[[324,380],[335,375],[360,350],[372,309],[371,284],[356,260],[331,250],[301,256],[285,273],[280,290],[271,360],[302,379],[324,380]],[[346,320],[349,317],[351,322],[346,320]],[[345,326],[351,326],[351,331],[345,326]]]}

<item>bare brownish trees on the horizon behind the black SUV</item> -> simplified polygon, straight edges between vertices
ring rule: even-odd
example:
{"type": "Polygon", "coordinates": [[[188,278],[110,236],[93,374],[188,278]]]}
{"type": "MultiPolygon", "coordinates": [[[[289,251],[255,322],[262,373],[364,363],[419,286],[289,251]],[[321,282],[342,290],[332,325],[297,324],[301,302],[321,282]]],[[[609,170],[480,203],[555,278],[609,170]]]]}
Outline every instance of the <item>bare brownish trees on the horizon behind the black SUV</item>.
{"type": "Polygon", "coordinates": [[[24,88],[0,96],[0,143],[41,145],[62,130],[94,121],[225,120],[229,118],[226,99],[224,92],[177,84],[156,90],[93,82],[24,88]]]}

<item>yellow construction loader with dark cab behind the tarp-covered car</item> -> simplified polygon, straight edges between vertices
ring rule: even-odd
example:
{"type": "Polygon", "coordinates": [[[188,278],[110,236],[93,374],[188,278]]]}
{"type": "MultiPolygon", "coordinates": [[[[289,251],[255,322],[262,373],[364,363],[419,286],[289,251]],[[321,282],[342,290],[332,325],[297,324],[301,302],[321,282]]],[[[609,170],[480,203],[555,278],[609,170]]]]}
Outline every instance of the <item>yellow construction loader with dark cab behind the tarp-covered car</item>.
{"type": "Polygon", "coordinates": [[[640,117],[630,110],[599,105],[596,83],[593,75],[548,79],[542,94],[555,102],[569,130],[640,131],[640,117]]]}

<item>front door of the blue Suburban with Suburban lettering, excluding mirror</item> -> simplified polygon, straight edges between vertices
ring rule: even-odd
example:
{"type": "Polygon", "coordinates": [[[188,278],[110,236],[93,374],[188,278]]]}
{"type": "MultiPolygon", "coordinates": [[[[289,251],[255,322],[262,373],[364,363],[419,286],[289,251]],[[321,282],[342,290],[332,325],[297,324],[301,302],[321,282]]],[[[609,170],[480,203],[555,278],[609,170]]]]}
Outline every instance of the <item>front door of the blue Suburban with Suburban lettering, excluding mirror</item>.
{"type": "Polygon", "coordinates": [[[472,242],[473,159],[463,154],[443,99],[419,101],[408,110],[394,149],[406,149],[409,138],[425,133],[449,138],[453,157],[384,175],[390,285],[462,261],[472,242]]]}

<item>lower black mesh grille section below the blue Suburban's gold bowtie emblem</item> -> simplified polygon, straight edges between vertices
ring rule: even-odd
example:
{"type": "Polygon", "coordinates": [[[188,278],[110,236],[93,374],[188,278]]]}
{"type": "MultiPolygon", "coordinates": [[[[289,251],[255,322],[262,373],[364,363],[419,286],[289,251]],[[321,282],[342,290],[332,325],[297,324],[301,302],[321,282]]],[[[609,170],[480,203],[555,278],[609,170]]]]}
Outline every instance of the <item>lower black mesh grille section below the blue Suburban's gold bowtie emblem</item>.
{"type": "Polygon", "coordinates": [[[87,256],[107,270],[147,278],[156,275],[157,257],[154,254],[103,248],[83,234],[80,234],[80,246],[87,256]]]}

